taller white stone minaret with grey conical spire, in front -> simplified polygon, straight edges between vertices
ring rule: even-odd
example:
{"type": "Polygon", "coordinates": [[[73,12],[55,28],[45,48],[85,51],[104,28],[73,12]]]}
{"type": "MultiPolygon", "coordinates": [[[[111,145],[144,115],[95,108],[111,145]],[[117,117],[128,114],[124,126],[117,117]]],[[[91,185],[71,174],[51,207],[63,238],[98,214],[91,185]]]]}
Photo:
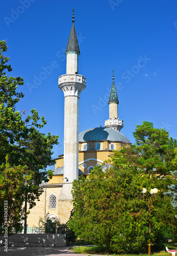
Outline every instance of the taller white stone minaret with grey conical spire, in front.
{"type": "MultiPolygon", "coordinates": [[[[86,78],[78,74],[80,49],[74,27],[72,10],[72,28],[66,47],[66,75],[58,79],[59,88],[64,93],[64,174],[63,187],[59,200],[71,200],[71,187],[78,180],[79,170],[79,98],[86,87],[86,78]]],[[[70,213],[70,212],[69,212],[70,213]]]]}

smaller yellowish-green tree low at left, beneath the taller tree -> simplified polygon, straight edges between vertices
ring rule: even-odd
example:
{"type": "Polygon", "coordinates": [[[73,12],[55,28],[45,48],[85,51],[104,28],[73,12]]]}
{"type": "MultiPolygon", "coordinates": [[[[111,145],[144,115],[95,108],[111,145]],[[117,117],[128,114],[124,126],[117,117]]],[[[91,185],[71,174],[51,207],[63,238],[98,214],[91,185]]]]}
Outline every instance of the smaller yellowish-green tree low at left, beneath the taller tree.
{"type": "MultiPolygon", "coordinates": [[[[6,159],[8,160],[7,157],[6,159]]],[[[20,221],[24,219],[24,207],[22,207],[22,204],[26,195],[25,182],[31,179],[31,176],[27,175],[27,173],[29,173],[27,166],[18,165],[11,167],[8,161],[6,164],[0,166],[0,202],[2,203],[2,215],[4,215],[3,202],[10,209],[10,215],[9,212],[7,215],[8,221],[5,222],[4,219],[3,224],[8,224],[9,232],[20,231],[22,229],[20,221]]],[[[27,214],[25,217],[27,217],[27,214]]],[[[3,231],[3,228],[1,231],[3,231]]]]}

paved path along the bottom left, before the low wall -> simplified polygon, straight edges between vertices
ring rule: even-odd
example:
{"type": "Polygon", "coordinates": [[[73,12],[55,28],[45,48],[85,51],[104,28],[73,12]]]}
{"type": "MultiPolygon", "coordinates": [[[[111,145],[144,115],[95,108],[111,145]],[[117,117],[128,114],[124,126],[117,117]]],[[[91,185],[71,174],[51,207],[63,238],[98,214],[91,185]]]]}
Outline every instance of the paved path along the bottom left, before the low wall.
{"type": "MultiPolygon", "coordinates": [[[[70,250],[70,247],[8,247],[8,252],[0,246],[1,256],[88,256],[90,254],[78,254],[70,250]]],[[[93,254],[92,254],[93,255],[93,254]]],[[[94,256],[98,256],[95,255],[94,256]]],[[[105,256],[105,255],[102,255],[105,256]]]]}

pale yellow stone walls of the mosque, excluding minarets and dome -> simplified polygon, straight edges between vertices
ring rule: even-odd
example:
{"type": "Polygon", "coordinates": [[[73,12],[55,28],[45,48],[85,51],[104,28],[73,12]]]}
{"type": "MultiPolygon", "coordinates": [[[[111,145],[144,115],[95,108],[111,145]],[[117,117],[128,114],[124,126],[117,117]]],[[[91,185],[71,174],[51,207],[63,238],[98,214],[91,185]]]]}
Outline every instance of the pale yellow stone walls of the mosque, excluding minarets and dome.
{"type": "MultiPolygon", "coordinates": [[[[83,144],[79,143],[79,168],[86,175],[89,173],[88,168],[90,166],[96,166],[97,163],[102,164],[105,160],[110,159],[111,155],[113,155],[113,151],[109,150],[110,143],[109,141],[100,142],[101,147],[100,150],[96,151],[96,143],[98,142],[88,142],[88,148],[93,148],[93,150],[83,151],[83,144]],[[107,148],[107,149],[106,149],[107,148]],[[87,166],[83,168],[83,163],[87,166]]],[[[119,150],[121,147],[121,143],[113,142],[115,145],[115,150],[119,150]]],[[[63,156],[60,156],[56,159],[55,169],[63,166],[63,156]]],[[[89,174],[88,174],[89,176],[89,174]]],[[[66,223],[70,216],[70,211],[72,210],[72,204],[69,200],[58,200],[60,191],[63,183],[63,175],[54,175],[51,180],[48,181],[48,184],[44,186],[43,192],[39,198],[40,201],[36,201],[36,206],[30,209],[30,215],[27,218],[27,224],[29,227],[37,226],[39,222],[39,217],[44,218],[47,212],[50,214],[54,214],[58,216],[61,223],[66,223]],[[57,208],[49,209],[49,195],[50,193],[55,193],[57,196],[57,208]]]]}

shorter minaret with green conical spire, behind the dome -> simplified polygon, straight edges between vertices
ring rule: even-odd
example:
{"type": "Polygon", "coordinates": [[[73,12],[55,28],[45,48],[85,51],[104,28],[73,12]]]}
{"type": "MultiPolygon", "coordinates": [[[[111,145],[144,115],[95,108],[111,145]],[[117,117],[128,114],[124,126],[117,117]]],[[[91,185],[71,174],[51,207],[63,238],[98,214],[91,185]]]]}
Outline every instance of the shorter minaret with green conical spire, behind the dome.
{"type": "Polygon", "coordinates": [[[116,87],[114,83],[114,70],[112,75],[112,87],[111,87],[111,93],[109,96],[109,119],[105,120],[105,127],[111,128],[113,130],[119,131],[123,127],[123,121],[118,118],[118,97],[116,92],[116,87]]]}

